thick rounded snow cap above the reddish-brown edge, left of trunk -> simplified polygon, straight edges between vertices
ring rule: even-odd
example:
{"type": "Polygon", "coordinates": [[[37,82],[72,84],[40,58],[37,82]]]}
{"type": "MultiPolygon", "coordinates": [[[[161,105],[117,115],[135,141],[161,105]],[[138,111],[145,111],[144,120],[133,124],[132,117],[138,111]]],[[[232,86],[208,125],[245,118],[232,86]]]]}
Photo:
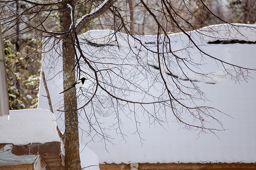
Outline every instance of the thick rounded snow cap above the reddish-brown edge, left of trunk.
{"type": "Polygon", "coordinates": [[[26,145],[28,143],[59,142],[56,118],[46,109],[10,111],[0,117],[0,143],[26,145]]]}

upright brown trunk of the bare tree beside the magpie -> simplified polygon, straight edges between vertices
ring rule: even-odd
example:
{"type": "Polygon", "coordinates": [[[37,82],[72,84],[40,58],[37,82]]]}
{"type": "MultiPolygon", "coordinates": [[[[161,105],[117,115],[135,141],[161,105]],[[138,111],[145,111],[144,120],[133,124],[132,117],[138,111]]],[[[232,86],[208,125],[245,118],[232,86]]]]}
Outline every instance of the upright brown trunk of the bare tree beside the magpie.
{"type": "MultiPolygon", "coordinates": [[[[75,6],[75,1],[63,0],[63,28],[68,31],[72,23],[71,10],[67,4],[75,6]]],[[[73,12],[72,12],[73,14],[73,12]]],[[[75,37],[73,32],[63,36],[63,87],[71,86],[76,81],[75,70],[75,37]]],[[[65,108],[65,169],[81,169],[79,155],[79,129],[77,118],[76,90],[64,92],[65,108]]]]}

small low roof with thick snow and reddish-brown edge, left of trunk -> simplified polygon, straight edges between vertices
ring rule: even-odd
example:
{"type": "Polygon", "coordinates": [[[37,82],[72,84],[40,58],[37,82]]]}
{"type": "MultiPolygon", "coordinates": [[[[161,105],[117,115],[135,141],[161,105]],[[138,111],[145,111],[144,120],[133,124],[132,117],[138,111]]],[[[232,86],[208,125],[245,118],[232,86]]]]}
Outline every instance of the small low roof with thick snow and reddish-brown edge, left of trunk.
{"type": "Polygon", "coordinates": [[[46,109],[10,111],[0,116],[0,144],[0,167],[35,164],[40,154],[59,155],[56,118],[46,109]]]}

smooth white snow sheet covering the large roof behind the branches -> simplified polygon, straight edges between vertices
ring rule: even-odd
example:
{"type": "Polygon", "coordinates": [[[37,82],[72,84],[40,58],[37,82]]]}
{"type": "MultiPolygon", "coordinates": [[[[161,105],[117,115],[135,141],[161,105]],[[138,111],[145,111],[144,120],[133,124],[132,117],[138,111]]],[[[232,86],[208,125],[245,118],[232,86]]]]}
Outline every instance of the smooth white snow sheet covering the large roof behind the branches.
{"type": "MultiPolygon", "coordinates": [[[[247,27],[242,27],[242,25],[238,26],[240,27],[236,27],[236,29],[233,30],[233,27],[229,25],[213,25],[190,32],[190,34],[205,52],[220,57],[224,59],[224,61],[255,68],[255,44],[207,44],[209,41],[224,39],[256,41],[256,25],[246,25],[247,27]],[[203,35],[199,34],[199,32],[203,33],[203,35]],[[213,36],[217,38],[214,39],[213,36]]],[[[133,61],[129,59],[133,58],[134,54],[139,52],[140,56],[147,58],[147,64],[151,65],[153,73],[152,75],[146,76],[154,76],[154,69],[157,69],[154,54],[143,50],[139,43],[130,36],[117,33],[117,37],[118,44],[114,41],[115,36],[113,31],[88,31],[80,35],[82,50],[86,53],[86,57],[90,58],[90,56],[92,56],[90,59],[93,61],[97,60],[99,61],[98,63],[100,63],[101,59],[105,59],[105,62],[109,61],[109,63],[123,62],[127,59],[125,62],[132,63],[133,61]],[[131,46],[133,52],[131,52],[129,46],[131,46]],[[119,58],[117,58],[117,56],[119,58]]],[[[149,49],[155,49],[156,36],[137,36],[137,39],[142,41],[144,45],[147,45],[149,49]]],[[[176,50],[177,52],[180,50],[181,56],[187,55],[187,50],[189,50],[193,59],[200,59],[198,51],[189,48],[188,37],[183,33],[172,34],[170,35],[170,39],[172,50],[176,50]],[[184,48],[186,48],[186,51],[181,50],[184,48]]],[[[57,112],[57,109],[63,109],[63,96],[59,95],[59,92],[63,90],[61,72],[62,61],[60,57],[61,46],[55,46],[55,49],[59,52],[55,53],[53,50],[48,50],[52,49],[51,45],[53,43],[55,43],[55,41],[47,41],[44,48],[47,53],[43,54],[42,70],[48,80],[47,84],[52,99],[53,110],[57,117],[57,124],[59,128],[64,129],[64,114],[63,112],[57,112]]],[[[136,120],[138,122],[135,122],[130,118],[133,117],[133,114],[127,113],[127,108],[123,108],[118,115],[122,120],[119,128],[122,130],[122,133],[125,134],[122,136],[119,131],[120,129],[114,126],[114,123],[117,121],[117,116],[113,114],[113,108],[108,107],[108,105],[111,106],[112,101],[109,101],[107,95],[101,94],[102,96],[98,100],[101,100],[102,105],[100,103],[96,104],[97,107],[94,108],[93,111],[96,113],[96,117],[101,126],[105,128],[104,132],[113,139],[111,139],[111,142],[104,141],[100,135],[93,132],[85,121],[85,113],[80,110],[79,125],[83,130],[80,131],[80,134],[82,134],[80,139],[81,144],[95,152],[100,163],[256,162],[255,71],[251,71],[251,79],[247,80],[247,82],[234,83],[222,77],[224,73],[215,61],[205,59],[204,63],[207,65],[201,68],[203,71],[207,71],[207,73],[214,71],[214,73],[219,76],[213,79],[202,79],[200,76],[188,73],[188,77],[189,79],[196,80],[197,85],[207,94],[209,101],[200,101],[201,103],[199,104],[215,107],[231,116],[229,117],[226,116],[226,114],[217,113],[215,115],[227,130],[217,131],[217,136],[211,133],[201,134],[199,136],[197,131],[189,131],[180,128],[172,114],[161,113],[160,109],[158,114],[166,116],[166,120],[168,120],[163,126],[151,122],[152,120],[148,118],[147,114],[141,112],[139,108],[136,108],[136,120]],[[139,131],[137,131],[136,127],[139,131]]],[[[86,69],[84,65],[80,66],[83,67],[85,73],[87,73],[83,76],[86,76],[89,80],[87,80],[85,86],[82,87],[82,91],[77,90],[79,107],[88,100],[86,97],[83,97],[83,95],[86,96],[85,91],[89,91],[90,88],[93,88],[94,83],[94,80],[90,78],[90,76],[93,77],[93,74],[86,69]]],[[[97,65],[97,62],[95,66],[105,69],[104,65],[97,65]]],[[[228,69],[230,69],[230,67],[228,67],[228,69]]],[[[183,75],[179,73],[179,70],[172,71],[178,78],[183,79],[183,75]]],[[[130,72],[134,73],[134,70],[130,70],[130,72]]],[[[143,81],[143,74],[136,74],[137,77],[135,78],[132,77],[134,75],[129,73],[127,73],[127,76],[141,81],[141,87],[146,87],[146,84],[149,83],[143,81]]],[[[46,94],[42,85],[43,83],[41,82],[39,108],[48,109],[48,101],[46,97],[42,96],[46,94]]],[[[152,94],[157,94],[160,87],[162,87],[162,85],[158,84],[152,91],[152,94]]],[[[87,93],[87,95],[90,94],[87,93]]],[[[138,94],[134,95],[132,92],[126,95],[127,99],[138,99],[141,97],[138,94]]],[[[91,116],[91,109],[92,108],[89,106],[86,107],[86,115],[91,116]]],[[[148,110],[150,109],[154,108],[148,108],[148,110]]],[[[215,126],[214,122],[210,122],[210,124],[215,126]]]]}

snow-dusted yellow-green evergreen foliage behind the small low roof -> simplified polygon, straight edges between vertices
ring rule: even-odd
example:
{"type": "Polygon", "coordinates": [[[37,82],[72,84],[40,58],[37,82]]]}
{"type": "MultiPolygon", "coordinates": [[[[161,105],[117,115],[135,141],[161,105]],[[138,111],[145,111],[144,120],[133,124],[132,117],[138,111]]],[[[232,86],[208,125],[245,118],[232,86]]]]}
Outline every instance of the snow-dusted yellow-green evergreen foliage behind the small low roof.
{"type": "Polygon", "coordinates": [[[30,52],[25,51],[32,50],[31,46],[26,46],[22,52],[14,52],[12,46],[10,42],[5,43],[9,107],[11,110],[37,108],[41,61],[40,57],[32,56],[38,56],[39,53],[27,56],[30,52]]]}

